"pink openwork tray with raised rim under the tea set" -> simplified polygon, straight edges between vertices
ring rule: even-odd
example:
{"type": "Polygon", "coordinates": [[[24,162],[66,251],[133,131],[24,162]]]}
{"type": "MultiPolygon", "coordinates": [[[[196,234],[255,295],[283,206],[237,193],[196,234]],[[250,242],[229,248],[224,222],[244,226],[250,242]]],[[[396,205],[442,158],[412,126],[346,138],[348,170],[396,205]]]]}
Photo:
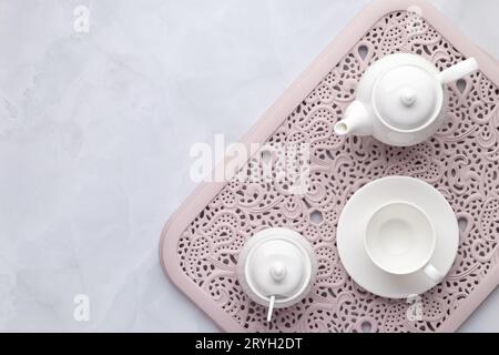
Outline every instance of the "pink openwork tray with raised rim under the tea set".
{"type": "MultiPolygon", "coordinates": [[[[432,7],[420,0],[374,1],[243,140],[246,145],[309,143],[312,191],[292,195],[278,183],[201,184],[164,227],[160,257],[165,272],[225,331],[455,331],[499,283],[498,87],[498,63],[432,7]],[[475,57],[480,72],[446,88],[448,124],[422,144],[400,149],[370,138],[335,136],[332,126],[352,102],[364,70],[394,52],[418,53],[440,70],[475,57]],[[386,175],[430,183],[447,197],[461,225],[452,270],[416,301],[381,298],[361,290],[337,255],[342,207],[360,186],[386,175]],[[317,213],[322,221],[310,219],[317,213]],[[271,323],[266,310],[243,293],[235,274],[241,246],[268,226],[301,232],[319,263],[309,296],[277,310],[271,323]],[[416,320],[408,316],[415,307],[416,313],[417,307],[422,311],[416,320]]],[[[258,169],[259,160],[255,155],[241,163],[258,169]]]]}

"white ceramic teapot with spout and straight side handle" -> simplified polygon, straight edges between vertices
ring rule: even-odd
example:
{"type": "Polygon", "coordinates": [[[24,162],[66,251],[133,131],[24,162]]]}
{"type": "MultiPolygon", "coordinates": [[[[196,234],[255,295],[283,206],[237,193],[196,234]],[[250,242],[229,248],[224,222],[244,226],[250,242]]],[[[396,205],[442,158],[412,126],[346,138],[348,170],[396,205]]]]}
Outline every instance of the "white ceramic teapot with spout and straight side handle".
{"type": "Polygon", "coordinates": [[[420,55],[397,53],[367,69],[356,100],[334,130],[338,135],[373,135],[386,144],[407,146],[431,136],[445,118],[442,84],[476,71],[469,58],[442,72],[420,55]]]}

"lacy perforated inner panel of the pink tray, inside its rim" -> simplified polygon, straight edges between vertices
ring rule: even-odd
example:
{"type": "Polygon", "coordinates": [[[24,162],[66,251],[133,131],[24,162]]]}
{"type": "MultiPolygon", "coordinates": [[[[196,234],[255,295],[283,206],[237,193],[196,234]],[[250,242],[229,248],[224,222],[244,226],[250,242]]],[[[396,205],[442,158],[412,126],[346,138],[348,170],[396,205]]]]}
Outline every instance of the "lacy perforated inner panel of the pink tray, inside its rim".
{"type": "MultiPolygon", "coordinates": [[[[446,87],[447,122],[429,141],[387,146],[370,138],[338,138],[333,125],[353,101],[366,68],[379,58],[411,52],[440,70],[461,60],[452,44],[409,12],[381,18],[268,139],[310,144],[309,191],[289,194],[284,183],[227,183],[182,234],[181,268],[200,292],[253,332],[434,332],[465,302],[499,261],[499,89],[482,73],[446,87]],[[417,22],[416,22],[417,21],[417,22]],[[418,23],[419,22],[419,23],[418,23]],[[438,189],[457,214],[460,246],[445,281],[416,300],[386,300],[361,290],[336,250],[339,213],[356,190],[387,175],[421,179],[438,189]],[[245,240],[262,229],[301,232],[318,258],[307,298],[266,310],[241,290],[235,267],[245,240]],[[419,317],[411,317],[411,314],[419,317]]],[[[247,169],[258,171],[254,158],[247,169]]]]}

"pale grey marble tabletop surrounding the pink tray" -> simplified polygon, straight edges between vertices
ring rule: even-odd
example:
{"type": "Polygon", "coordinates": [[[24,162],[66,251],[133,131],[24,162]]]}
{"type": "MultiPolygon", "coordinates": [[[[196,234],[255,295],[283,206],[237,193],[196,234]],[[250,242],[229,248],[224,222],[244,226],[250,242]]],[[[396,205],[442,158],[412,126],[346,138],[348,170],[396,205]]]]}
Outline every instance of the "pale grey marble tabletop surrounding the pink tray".
{"type": "MultiPolygon", "coordinates": [[[[432,2],[499,58],[498,1],[432,2]]],[[[157,260],[189,149],[236,141],[366,3],[0,0],[0,331],[217,331],[157,260]]],[[[499,332],[499,291],[461,329],[499,332]]]]}

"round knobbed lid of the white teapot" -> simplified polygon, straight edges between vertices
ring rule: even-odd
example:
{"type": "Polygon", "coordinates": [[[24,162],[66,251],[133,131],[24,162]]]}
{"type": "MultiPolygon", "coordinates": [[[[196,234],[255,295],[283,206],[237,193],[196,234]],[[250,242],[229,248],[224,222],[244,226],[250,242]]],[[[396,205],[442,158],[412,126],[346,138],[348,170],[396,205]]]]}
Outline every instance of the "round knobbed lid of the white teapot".
{"type": "Polygon", "coordinates": [[[410,131],[429,124],[440,112],[442,89],[438,78],[415,64],[388,70],[376,82],[376,114],[395,130],[410,131]]]}

